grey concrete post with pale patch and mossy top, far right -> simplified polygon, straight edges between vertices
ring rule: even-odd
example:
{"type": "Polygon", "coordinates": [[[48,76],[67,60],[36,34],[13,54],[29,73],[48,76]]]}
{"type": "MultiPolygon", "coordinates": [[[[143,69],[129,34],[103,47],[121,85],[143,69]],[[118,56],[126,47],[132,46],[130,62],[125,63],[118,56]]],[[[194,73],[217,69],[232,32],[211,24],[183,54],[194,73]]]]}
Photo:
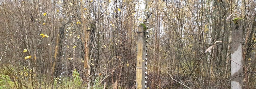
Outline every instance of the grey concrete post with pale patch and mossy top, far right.
{"type": "Polygon", "coordinates": [[[241,29],[238,29],[239,20],[239,18],[233,20],[235,27],[232,29],[231,39],[231,89],[243,88],[243,32],[241,29]]]}

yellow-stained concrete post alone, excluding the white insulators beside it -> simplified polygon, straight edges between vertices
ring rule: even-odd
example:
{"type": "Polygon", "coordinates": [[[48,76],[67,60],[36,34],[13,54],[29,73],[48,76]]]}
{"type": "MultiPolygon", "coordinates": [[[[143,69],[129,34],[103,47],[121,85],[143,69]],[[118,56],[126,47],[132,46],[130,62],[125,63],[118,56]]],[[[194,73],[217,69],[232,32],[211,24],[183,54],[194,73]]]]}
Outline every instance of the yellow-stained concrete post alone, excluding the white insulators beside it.
{"type": "Polygon", "coordinates": [[[144,36],[144,24],[138,26],[137,42],[137,63],[136,63],[136,89],[145,87],[145,58],[146,58],[146,38],[144,36]]]}

